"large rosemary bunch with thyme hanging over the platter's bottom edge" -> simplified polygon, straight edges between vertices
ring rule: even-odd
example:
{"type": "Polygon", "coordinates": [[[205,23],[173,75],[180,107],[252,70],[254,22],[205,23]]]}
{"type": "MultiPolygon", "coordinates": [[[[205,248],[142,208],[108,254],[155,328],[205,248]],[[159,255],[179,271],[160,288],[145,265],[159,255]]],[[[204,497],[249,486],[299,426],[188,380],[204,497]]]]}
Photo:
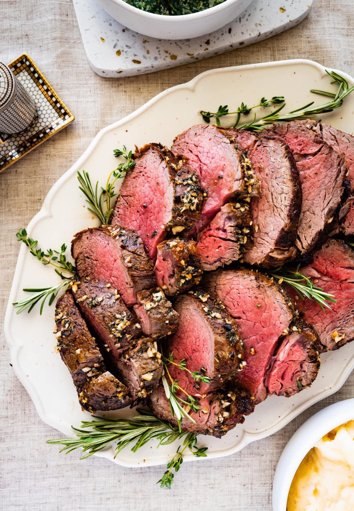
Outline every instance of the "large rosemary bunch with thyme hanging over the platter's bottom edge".
{"type": "Polygon", "coordinates": [[[188,448],[195,457],[205,457],[207,447],[196,447],[196,433],[180,431],[172,426],[168,421],[158,419],[153,413],[147,410],[138,409],[139,415],[131,419],[100,419],[98,421],[82,421],[81,428],[73,428],[76,432],[76,438],[55,438],[47,440],[50,445],[63,445],[60,452],[68,454],[75,449],[82,449],[86,453],[80,459],[88,458],[98,451],[106,448],[113,442],[117,442],[116,456],[125,447],[130,444],[132,452],[136,452],[140,447],[150,440],[157,438],[160,445],[168,445],[184,437],[183,449],[181,446],[177,449],[175,456],[167,464],[167,471],[158,481],[161,487],[171,488],[173,483],[172,470],[178,472],[183,462],[183,454],[188,448]],[[87,431],[86,428],[90,428],[87,431]]]}

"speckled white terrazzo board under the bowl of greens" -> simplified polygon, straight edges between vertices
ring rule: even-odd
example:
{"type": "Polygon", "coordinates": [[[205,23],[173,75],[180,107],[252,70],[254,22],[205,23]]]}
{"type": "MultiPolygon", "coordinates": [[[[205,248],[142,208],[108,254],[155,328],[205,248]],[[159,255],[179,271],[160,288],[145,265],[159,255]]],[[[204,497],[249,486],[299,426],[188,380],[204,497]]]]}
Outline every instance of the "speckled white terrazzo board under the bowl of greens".
{"type": "Polygon", "coordinates": [[[219,55],[267,39],[297,25],[313,0],[254,0],[237,19],[194,39],[153,39],[125,28],[96,0],[74,0],[87,59],[100,76],[152,73],[219,55]]]}

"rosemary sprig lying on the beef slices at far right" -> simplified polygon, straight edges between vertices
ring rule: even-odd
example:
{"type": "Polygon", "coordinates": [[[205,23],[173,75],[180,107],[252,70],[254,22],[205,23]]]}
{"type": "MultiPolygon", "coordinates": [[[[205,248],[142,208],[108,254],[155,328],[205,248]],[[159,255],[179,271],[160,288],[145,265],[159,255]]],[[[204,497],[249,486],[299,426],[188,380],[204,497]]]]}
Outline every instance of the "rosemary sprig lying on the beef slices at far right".
{"type": "Polygon", "coordinates": [[[300,265],[298,265],[295,271],[278,268],[270,273],[270,275],[278,281],[278,284],[284,282],[294,288],[303,300],[309,298],[312,301],[316,301],[323,311],[324,307],[331,309],[327,301],[336,304],[335,295],[326,293],[322,288],[315,286],[308,277],[300,273],[299,267],[300,265]]]}

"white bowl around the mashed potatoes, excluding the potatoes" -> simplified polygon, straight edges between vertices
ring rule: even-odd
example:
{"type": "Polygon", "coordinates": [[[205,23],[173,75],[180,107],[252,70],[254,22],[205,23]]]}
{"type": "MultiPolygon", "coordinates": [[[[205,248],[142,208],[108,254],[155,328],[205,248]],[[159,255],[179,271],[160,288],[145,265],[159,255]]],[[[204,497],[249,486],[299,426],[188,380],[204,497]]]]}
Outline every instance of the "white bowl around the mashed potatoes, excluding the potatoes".
{"type": "Polygon", "coordinates": [[[290,485],[299,464],[322,436],[354,420],[354,399],[339,401],[315,413],[294,433],[278,461],[273,480],[273,511],[286,511],[290,485]]]}

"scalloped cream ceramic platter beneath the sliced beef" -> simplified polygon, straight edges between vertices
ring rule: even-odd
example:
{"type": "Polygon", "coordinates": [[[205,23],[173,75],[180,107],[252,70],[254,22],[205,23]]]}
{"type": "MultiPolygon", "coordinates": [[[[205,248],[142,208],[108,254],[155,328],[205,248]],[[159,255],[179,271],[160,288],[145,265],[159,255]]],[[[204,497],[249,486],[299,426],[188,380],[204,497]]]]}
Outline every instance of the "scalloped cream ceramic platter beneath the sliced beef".
{"type": "MultiPolygon", "coordinates": [[[[352,78],[342,74],[350,84],[354,83],[352,78]]],[[[288,60],[215,69],[188,83],[167,89],[136,112],[98,133],[81,158],[53,186],[40,212],[28,226],[29,235],[38,240],[42,248],[59,247],[63,242],[70,246],[77,231],[97,225],[85,207],[76,174],[84,169],[90,173],[93,182],[98,179],[103,184],[108,172],[117,167],[113,149],[123,144],[134,148],[135,144],[142,146],[147,142],[161,142],[169,146],[176,134],[201,122],[198,110],[213,110],[220,104],[236,108],[241,101],[254,105],[262,96],[271,98],[276,95],[285,96],[286,109],[289,110],[312,99],[320,104],[324,102],[323,98],[311,94],[309,89],[330,90],[329,81],[320,64],[288,60]]],[[[354,95],[345,101],[344,107],[323,119],[351,133],[354,127],[354,95]]],[[[80,426],[80,421],[90,420],[91,415],[81,411],[69,371],[54,352],[54,308],[46,306],[41,317],[38,308],[31,314],[16,316],[11,305],[24,297],[23,288],[50,286],[56,280],[54,271],[39,264],[23,244],[11,289],[5,333],[13,368],[41,419],[63,434],[72,435],[71,425],[80,426]]],[[[320,373],[311,388],[290,399],[268,398],[256,407],[243,425],[238,425],[222,439],[201,436],[199,444],[209,448],[208,457],[234,453],[254,440],[275,433],[303,410],[338,390],[354,368],[354,343],[321,358],[320,373]]],[[[111,416],[130,416],[132,413],[126,408],[111,412],[111,416]]],[[[53,431],[52,436],[57,436],[57,433],[53,431]]],[[[176,445],[157,449],[157,444],[148,444],[136,453],[123,450],[115,461],[129,467],[166,463],[175,449],[176,445]]],[[[114,448],[98,455],[113,461],[114,448]]],[[[186,456],[186,459],[190,458],[195,459],[186,456]]]]}

